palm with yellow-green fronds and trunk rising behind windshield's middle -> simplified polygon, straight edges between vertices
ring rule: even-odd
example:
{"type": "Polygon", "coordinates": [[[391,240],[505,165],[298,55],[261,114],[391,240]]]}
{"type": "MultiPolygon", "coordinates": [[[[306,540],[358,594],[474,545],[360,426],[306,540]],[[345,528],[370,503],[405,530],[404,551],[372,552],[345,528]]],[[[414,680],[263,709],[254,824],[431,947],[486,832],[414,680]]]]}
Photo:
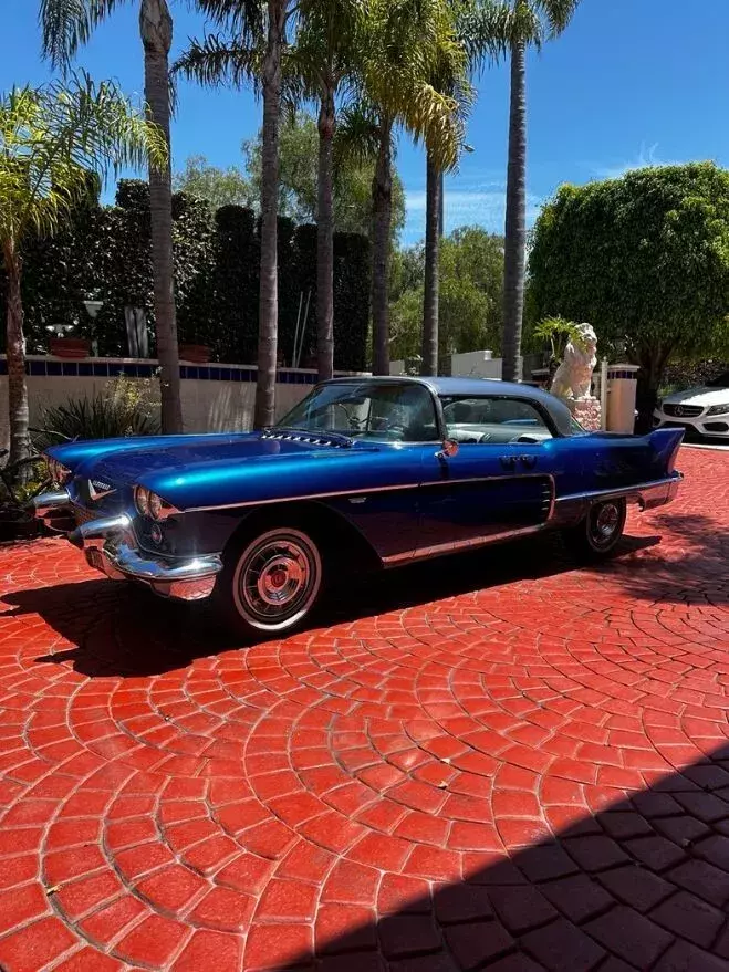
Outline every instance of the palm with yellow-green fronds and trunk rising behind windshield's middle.
{"type": "MultiPolygon", "coordinates": [[[[451,168],[462,143],[456,98],[431,84],[439,65],[462,73],[462,46],[446,0],[369,0],[360,43],[362,106],[351,112],[352,140],[376,146],[373,179],[373,372],[389,374],[388,281],[393,138],[398,125],[423,138],[439,169],[451,168]]],[[[361,149],[364,150],[364,149],[361,149]]]]}

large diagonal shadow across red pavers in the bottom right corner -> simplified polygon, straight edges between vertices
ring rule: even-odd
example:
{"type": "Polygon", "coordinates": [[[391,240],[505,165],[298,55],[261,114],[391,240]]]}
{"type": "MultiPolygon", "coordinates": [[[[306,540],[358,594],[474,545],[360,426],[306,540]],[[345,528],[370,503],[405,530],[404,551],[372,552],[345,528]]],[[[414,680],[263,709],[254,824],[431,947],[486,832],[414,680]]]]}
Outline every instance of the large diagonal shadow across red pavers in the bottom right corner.
{"type": "MultiPolygon", "coordinates": [[[[369,920],[353,887],[341,900],[357,905],[320,903],[309,948],[287,954],[295,926],[278,934],[253,928],[244,966],[268,968],[268,948],[269,960],[281,955],[279,970],[726,972],[729,745],[608,803],[614,794],[542,777],[542,808],[574,821],[558,836],[539,840],[544,823],[524,811],[507,822],[509,833],[535,843],[509,857],[466,854],[469,872],[452,884],[445,881],[452,855],[420,845],[423,878],[385,875],[369,920]]],[[[524,807],[535,802],[534,793],[521,795],[524,807]]]]}

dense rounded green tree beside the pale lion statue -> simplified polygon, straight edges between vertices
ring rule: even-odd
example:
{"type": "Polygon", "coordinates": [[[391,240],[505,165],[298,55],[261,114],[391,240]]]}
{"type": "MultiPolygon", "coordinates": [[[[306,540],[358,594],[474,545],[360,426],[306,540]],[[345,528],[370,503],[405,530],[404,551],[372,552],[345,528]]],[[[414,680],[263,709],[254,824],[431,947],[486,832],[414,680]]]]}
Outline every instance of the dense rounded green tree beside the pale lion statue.
{"type": "Polygon", "coordinates": [[[645,419],[671,356],[729,344],[729,171],[691,163],[563,186],[537,221],[529,268],[538,316],[625,343],[645,419]]]}

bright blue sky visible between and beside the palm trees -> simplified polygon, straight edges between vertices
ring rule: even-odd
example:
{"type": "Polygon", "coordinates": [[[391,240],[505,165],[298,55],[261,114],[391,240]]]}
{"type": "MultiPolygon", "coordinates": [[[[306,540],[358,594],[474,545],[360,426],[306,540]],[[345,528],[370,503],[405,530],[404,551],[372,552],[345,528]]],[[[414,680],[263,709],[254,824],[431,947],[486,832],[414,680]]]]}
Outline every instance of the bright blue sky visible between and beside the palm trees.
{"type": "MultiPolygon", "coordinates": [[[[40,60],[37,0],[0,0],[3,56],[0,90],[38,83],[50,72],[40,60]]],[[[171,0],[175,52],[202,32],[187,0],[171,0]]],[[[95,77],[116,77],[142,91],[136,0],[119,7],[81,53],[95,77]]],[[[686,0],[582,0],[563,36],[529,61],[529,212],[565,181],[619,175],[660,163],[714,159],[729,166],[729,0],[704,0],[687,15],[686,0]]],[[[478,80],[467,155],[447,180],[446,222],[503,229],[508,124],[504,67],[478,80]]],[[[206,155],[215,165],[240,164],[240,143],[260,124],[250,93],[206,91],[180,83],[173,129],[174,165],[206,155]]],[[[397,158],[408,199],[403,242],[424,232],[425,164],[403,138],[397,158]]]]}

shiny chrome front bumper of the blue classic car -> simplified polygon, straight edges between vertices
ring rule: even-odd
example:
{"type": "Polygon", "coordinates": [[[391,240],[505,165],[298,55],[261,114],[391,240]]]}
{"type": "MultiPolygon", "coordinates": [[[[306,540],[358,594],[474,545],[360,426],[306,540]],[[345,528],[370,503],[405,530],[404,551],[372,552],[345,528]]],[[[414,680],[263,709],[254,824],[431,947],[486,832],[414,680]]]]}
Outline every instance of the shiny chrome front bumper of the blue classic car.
{"type": "MultiPolygon", "coordinates": [[[[42,493],[33,505],[35,515],[50,525],[54,523],[54,514],[58,518],[64,508],[72,509],[65,490],[42,493]]],[[[170,560],[139,551],[133,546],[132,520],[126,513],[80,523],[67,533],[67,539],[84,552],[90,566],[112,581],[140,581],[163,597],[180,600],[208,597],[216,576],[222,571],[218,554],[170,560]]]]}

